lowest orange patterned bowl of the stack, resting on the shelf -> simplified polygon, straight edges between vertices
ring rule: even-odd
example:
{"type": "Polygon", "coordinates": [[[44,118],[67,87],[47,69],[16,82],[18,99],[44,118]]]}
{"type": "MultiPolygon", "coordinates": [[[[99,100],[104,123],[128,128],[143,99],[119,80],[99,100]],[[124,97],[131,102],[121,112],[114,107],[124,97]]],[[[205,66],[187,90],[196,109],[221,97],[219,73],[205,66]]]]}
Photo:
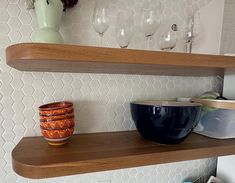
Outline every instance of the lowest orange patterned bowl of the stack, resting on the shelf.
{"type": "Polygon", "coordinates": [[[68,142],[69,137],[73,134],[74,128],[62,130],[45,130],[41,129],[41,133],[47,140],[49,145],[61,146],[68,142]]]}

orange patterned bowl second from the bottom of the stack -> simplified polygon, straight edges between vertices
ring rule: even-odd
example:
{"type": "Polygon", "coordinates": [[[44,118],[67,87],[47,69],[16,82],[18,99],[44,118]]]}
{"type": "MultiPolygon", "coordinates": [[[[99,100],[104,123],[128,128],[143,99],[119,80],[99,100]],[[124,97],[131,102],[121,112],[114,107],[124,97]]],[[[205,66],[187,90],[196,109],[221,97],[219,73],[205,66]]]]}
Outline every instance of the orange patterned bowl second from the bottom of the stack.
{"type": "Polygon", "coordinates": [[[74,127],[74,117],[63,120],[40,122],[40,128],[44,130],[62,130],[74,127]]]}

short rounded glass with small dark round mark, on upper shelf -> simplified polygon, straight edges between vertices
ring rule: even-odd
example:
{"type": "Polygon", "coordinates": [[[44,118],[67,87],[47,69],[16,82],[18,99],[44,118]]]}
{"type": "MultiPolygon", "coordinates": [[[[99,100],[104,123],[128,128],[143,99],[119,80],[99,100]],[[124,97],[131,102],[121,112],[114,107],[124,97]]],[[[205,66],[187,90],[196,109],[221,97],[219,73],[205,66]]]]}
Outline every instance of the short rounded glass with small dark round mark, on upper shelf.
{"type": "Polygon", "coordinates": [[[161,35],[159,46],[163,51],[172,50],[177,43],[177,25],[173,24],[170,28],[166,29],[161,35]]]}

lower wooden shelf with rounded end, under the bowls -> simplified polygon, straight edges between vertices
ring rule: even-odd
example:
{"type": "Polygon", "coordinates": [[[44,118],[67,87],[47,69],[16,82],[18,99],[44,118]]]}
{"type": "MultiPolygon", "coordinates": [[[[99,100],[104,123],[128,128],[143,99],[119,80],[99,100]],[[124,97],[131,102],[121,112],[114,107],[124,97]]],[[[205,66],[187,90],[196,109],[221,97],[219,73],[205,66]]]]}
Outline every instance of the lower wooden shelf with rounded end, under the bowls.
{"type": "Polygon", "coordinates": [[[235,154],[235,139],[215,140],[192,133],[177,145],[160,145],[138,132],[81,134],[61,147],[42,137],[25,137],[12,152],[16,173],[48,178],[235,154]]]}

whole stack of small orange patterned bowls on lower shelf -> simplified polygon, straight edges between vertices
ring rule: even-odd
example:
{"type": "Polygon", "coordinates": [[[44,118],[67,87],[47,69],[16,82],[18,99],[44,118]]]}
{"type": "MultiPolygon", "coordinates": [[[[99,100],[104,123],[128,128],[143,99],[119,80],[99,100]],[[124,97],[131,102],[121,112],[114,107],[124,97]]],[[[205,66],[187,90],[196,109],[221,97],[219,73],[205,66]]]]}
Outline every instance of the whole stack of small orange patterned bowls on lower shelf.
{"type": "Polygon", "coordinates": [[[66,144],[74,131],[73,103],[65,101],[42,105],[39,115],[41,133],[48,144],[66,144]]]}

